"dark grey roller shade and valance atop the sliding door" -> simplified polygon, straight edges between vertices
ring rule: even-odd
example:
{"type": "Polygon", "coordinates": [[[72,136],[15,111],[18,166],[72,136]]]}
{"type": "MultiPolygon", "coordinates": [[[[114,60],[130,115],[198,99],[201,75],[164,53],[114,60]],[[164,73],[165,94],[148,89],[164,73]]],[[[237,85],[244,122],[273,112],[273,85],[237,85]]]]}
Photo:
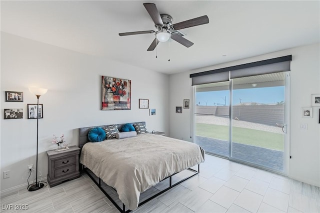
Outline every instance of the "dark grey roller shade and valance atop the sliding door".
{"type": "Polygon", "coordinates": [[[228,81],[232,78],[246,77],[273,72],[290,71],[292,55],[228,66],[190,74],[192,85],[228,81]]]}

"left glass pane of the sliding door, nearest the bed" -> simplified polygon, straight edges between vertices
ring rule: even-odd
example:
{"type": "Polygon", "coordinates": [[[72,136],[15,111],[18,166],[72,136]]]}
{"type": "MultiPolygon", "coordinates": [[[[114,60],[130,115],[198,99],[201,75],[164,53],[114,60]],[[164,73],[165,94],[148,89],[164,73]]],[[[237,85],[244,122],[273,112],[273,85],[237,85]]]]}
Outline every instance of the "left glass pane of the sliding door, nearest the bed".
{"type": "Polygon", "coordinates": [[[229,156],[229,81],[196,86],[195,143],[206,153],[229,156]]]}

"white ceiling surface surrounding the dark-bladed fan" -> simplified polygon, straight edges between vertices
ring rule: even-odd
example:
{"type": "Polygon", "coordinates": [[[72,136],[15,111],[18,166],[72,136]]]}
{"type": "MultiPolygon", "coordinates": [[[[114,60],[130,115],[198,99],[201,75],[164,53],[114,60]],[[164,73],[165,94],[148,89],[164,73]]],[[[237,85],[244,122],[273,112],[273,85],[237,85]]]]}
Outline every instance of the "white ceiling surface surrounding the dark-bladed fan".
{"type": "Polygon", "coordinates": [[[1,31],[170,74],[317,43],[319,13],[318,0],[1,0],[1,31]],[[159,43],[155,58],[155,50],[146,51],[153,34],[118,35],[156,30],[143,2],[172,23],[205,14],[209,23],[180,30],[194,42],[189,48],[159,43]]]}

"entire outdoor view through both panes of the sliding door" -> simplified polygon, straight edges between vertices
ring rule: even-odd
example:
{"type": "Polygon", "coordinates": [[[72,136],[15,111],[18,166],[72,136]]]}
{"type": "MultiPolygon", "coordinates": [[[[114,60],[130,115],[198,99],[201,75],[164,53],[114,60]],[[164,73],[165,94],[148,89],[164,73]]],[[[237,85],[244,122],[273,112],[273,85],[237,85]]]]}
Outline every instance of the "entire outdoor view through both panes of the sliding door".
{"type": "Polygon", "coordinates": [[[285,172],[285,76],[280,72],[195,86],[195,143],[206,153],[285,172]]]}

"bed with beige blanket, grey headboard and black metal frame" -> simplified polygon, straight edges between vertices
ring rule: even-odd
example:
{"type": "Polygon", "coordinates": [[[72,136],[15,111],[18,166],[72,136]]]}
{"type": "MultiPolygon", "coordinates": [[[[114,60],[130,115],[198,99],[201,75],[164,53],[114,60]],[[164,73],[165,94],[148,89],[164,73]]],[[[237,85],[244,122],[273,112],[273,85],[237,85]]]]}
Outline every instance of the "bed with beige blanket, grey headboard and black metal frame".
{"type": "MultiPolygon", "coordinates": [[[[145,125],[145,122],[137,123],[145,125]]],[[[121,129],[123,124],[116,125],[121,129]]],[[[126,212],[125,207],[134,210],[147,201],[139,203],[141,192],[169,178],[169,186],[162,190],[162,193],[197,174],[199,164],[204,161],[204,150],[197,144],[151,133],[89,142],[87,133],[93,127],[95,126],[79,129],[80,163],[98,177],[96,181],[90,176],[98,186],[102,180],[114,188],[123,203],[122,208],[114,200],[111,202],[123,212],[126,212]],[[195,165],[198,165],[197,170],[191,168],[195,165]],[[172,184],[171,176],[185,169],[194,172],[172,184]]],[[[111,198],[106,191],[103,193],[111,198]]]]}

